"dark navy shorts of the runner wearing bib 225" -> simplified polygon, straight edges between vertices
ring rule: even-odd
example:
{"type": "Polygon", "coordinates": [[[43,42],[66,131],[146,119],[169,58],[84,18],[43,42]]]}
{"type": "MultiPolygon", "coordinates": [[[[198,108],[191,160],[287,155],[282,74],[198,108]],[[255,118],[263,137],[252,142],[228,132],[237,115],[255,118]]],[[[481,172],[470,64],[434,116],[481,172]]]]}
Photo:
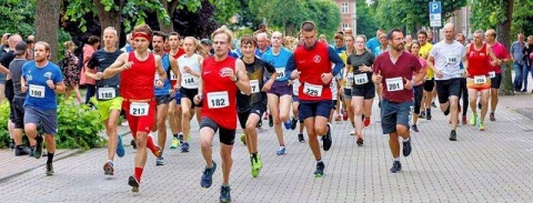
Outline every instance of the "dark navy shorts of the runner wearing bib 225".
{"type": "Polygon", "coordinates": [[[300,101],[298,105],[298,114],[301,121],[310,116],[323,116],[329,119],[331,109],[333,108],[332,101],[300,101]]]}

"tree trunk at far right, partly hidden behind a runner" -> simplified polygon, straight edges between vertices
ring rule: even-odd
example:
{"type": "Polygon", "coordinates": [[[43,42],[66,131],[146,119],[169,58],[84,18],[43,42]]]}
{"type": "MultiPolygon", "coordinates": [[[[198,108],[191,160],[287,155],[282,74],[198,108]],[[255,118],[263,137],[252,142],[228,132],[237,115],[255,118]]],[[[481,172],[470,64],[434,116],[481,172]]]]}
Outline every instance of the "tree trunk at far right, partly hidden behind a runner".
{"type": "MultiPolygon", "coordinates": [[[[505,20],[497,24],[497,37],[499,41],[502,42],[505,48],[511,47],[511,20],[513,19],[513,9],[514,9],[514,0],[506,0],[502,2],[502,10],[505,12],[505,20]]],[[[500,89],[500,94],[503,95],[513,95],[513,82],[512,82],[512,62],[505,64],[503,67],[502,72],[502,88],[500,89]]]]}

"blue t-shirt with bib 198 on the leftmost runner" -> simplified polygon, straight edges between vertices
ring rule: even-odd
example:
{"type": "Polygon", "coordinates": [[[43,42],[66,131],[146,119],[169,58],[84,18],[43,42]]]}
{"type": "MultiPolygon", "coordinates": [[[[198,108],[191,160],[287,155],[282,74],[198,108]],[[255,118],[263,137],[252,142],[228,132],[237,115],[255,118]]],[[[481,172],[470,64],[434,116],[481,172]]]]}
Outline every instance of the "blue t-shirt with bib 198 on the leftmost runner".
{"type": "Polygon", "coordinates": [[[47,80],[52,80],[54,84],[63,81],[57,64],[48,62],[44,67],[38,68],[36,61],[27,62],[22,65],[22,77],[28,83],[24,106],[38,110],[58,109],[56,91],[47,85],[47,80]]]}

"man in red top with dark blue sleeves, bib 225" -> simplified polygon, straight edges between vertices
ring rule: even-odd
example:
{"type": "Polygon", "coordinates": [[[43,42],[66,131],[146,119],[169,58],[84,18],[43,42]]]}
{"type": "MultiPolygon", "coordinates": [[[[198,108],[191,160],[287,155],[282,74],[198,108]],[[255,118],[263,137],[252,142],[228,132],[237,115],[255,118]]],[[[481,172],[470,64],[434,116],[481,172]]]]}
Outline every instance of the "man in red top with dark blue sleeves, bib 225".
{"type": "Polygon", "coordinates": [[[316,41],[314,22],[305,21],[301,26],[302,43],[289,58],[285,74],[291,74],[292,80],[300,81],[299,89],[299,116],[303,120],[308,131],[309,146],[316,160],[315,177],[324,175],[324,162],[320,152],[318,136],[322,136],[324,151],[332,144],[330,118],[332,104],[332,90],[330,83],[335,82],[334,77],[341,72],[344,62],[328,44],[316,41]],[[334,68],[332,69],[332,63],[334,68]]]}

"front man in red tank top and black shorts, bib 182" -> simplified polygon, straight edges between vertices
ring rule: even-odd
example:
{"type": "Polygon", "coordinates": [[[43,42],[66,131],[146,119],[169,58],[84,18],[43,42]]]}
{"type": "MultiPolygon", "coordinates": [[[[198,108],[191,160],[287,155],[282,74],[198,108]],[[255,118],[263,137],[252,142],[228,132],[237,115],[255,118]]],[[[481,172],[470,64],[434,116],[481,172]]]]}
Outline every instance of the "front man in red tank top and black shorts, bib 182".
{"type": "Polygon", "coordinates": [[[198,94],[194,97],[197,104],[203,102],[200,142],[207,166],[200,185],[207,189],[213,183],[217,163],[212,161],[211,143],[214,133],[219,131],[223,175],[220,202],[231,202],[230,171],[233,164],[231,151],[237,129],[237,91],[250,95],[252,89],[244,63],[240,59],[228,57],[231,33],[227,29],[218,29],[212,37],[215,54],[203,61],[198,94]]]}

